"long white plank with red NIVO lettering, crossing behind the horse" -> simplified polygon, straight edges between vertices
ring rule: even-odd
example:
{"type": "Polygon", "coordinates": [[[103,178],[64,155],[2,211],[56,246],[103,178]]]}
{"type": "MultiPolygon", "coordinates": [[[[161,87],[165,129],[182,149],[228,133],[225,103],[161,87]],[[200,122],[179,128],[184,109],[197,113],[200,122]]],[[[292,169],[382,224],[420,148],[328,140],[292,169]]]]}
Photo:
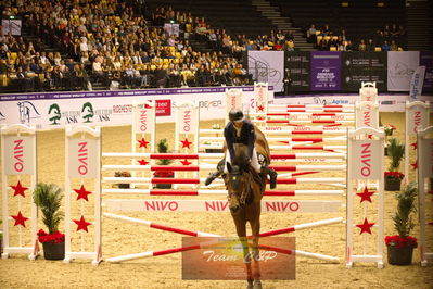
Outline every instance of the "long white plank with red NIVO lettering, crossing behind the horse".
{"type": "MultiPolygon", "coordinates": [[[[229,212],[222,200],[106,200],[107,211],[124,212],[229,212]]],[[[262,211],[270,213],[338,212],[340,201],[262,201],[262,211]]]]}

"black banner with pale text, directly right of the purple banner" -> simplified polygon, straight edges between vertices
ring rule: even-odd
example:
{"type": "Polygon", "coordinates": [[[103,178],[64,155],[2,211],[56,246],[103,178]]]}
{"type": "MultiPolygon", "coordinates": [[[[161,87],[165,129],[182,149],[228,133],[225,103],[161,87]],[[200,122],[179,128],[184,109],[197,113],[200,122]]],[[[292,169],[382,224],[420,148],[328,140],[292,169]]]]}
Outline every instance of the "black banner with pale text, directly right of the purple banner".
{"type": "Polygon", "coordinates": [[[386,91],[386,52],[342,52],[342,90],[358,91],[362,81],[386,91]]]}

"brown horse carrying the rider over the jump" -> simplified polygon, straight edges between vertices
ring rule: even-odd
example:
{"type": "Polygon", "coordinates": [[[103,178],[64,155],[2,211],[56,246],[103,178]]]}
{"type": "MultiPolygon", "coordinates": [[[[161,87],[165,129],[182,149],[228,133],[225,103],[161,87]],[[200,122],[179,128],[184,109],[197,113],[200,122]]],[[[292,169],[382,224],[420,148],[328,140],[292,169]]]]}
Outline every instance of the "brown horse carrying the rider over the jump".
{"type": "MultiPolygon", "coordinates": [[[[255,126],[255,148],[259,162],[270,163],[270,151],[265,135],[255,126]]],[[[235,148],[235,156],[232,164],[227,163],[227,173],[222,178],[228,190],[229,209],[233,218],[238,237],[243,247],[244,263],[246,266],[246,288],[262,288],[258,264],[258,237],[260,234],[262,198],[266,187],[266,175],[256,173],[246,162],[245,146],[235,148]],[[253,241],[252,252],[246,239],[246,223],[250,223],[253,241]],[[254,271],[252,269],[254,259],[254,271]]],[[[225,146],[227,153],[227,146],[225,146]]]]}

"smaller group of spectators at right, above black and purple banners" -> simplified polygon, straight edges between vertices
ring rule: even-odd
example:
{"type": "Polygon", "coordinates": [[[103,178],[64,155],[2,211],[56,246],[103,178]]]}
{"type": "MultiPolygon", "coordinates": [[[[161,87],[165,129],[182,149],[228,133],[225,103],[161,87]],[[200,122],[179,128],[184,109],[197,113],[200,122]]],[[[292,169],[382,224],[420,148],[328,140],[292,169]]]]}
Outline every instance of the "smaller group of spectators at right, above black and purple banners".
{"type": "Polygon", "coordinates": [[[306,30],[308,42],[314,43],[318,50],[334,51],[398,51],[404,50],[406,29],[403,25],[385,25],[366,38],[356,40],[347,37],[345,29],[331,29],[327,24],[321,28],[315,24],[306,30]]]}

